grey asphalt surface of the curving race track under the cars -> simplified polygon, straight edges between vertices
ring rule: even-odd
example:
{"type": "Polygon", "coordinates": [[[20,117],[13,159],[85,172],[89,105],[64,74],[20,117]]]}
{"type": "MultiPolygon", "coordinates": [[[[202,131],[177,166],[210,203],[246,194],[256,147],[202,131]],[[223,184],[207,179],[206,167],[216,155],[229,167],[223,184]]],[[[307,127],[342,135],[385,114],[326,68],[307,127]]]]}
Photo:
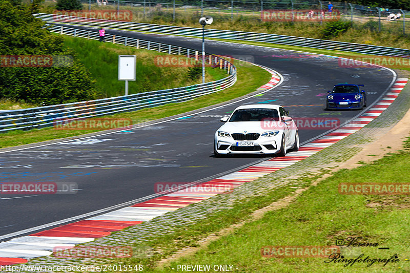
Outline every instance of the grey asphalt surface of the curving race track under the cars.
{"type": "MultiPolygon", "coordinates": [[[[193,38],[107,32],[198,50],[201,46],[200,40],[193,38]]],[[[240,104],[281,104],[293,117],[332,115],[351,119],[359,112],[323,111],[326,90],[340,82],[363,83],[369,92],[368,104],[371,104],[388,90],[396,77],[391,70],[382,68],[340,68],[337,58],[309,53],[217,41],[207,41],[206,50],[233,57],[252,56],[256,64],[275,69],[284,80],[261,96],[190,116],[97,137],[3,152],[2,182],[75,182],[78,188],[77,194],[72,195],[1,196],[0,203],[7,213],[2,214],[0,238],[11,238],[8,235],[19,230],[64,221],[98,209],[118,204],[126,206],[126,202],[154,194],[154,184],[158,182],[209,181],[226,174],[227,170],[233,172],[269,159],[212,156],[213,135],[220,125],[220,117],[229,115],[240,104]]],[[[325,130],[301,130],[300,140],[323,133],[325,130]]]]}

